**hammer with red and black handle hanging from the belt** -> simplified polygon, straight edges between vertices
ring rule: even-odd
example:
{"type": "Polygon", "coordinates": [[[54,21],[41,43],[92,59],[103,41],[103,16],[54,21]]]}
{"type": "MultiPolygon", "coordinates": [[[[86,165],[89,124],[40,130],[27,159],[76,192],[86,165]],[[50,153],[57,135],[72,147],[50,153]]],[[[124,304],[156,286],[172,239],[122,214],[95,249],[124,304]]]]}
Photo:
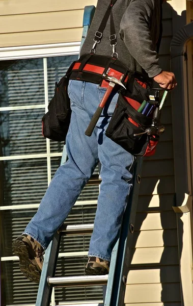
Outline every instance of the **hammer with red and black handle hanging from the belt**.
{"type": "MultiPolygon", "coordinates": [[[[106,101],[108,100],[109,96],[111,95],[111,93],[112,93],[112,91],[113,91],[115,85],[117,84],[117,85],[120,85],[120,86],[122,86],[123,88],[125,88],[125,86],[123,85],[123,83],[121,83],[121,80],[123,79],[123,76],[124,76],[124,74],[122,74],[121,77],[120,77],[120,79],[118,80],[118,79],[116,79],[115,77],[109,77],[109,75],[107,75],[107,74],[105,74],[105,73],[102,75],[102,78],[103,78],[104,80],[107,80],[107,81],[110,81],[110,82],[109,82],[109,85],[108,85],[108,87],[107,87],[107,90],[106,90],[106,92],[105,92],[105,94],[104,94],[104,96],[103,96],[103,98],[102,98],[101,103],[99,104],[99,106],[98,106],[96,112],[94,113],[94,115],[93,115],[93,117],[92,117],[92,119],[91,119],[91,121],[90,121],[90,123],[89,123],[89,126],[87,127],[87,130],[86,130],[86,132],[85,132],[85,135],[87,135],[87,136],[89,136],[89,137],[92,135],[93,130],[94,130],[96,124],[97,124],[97,121],[98,121],[98,119],[99,119],[99,117],[100,117],[100,115],[101,115],[101,113],[102,113],[102,110],[103,110],[105,104],[106,104],[106,101]]],[[[125,89],[126,89],[126,88],[125,88],[125,89]]]]}

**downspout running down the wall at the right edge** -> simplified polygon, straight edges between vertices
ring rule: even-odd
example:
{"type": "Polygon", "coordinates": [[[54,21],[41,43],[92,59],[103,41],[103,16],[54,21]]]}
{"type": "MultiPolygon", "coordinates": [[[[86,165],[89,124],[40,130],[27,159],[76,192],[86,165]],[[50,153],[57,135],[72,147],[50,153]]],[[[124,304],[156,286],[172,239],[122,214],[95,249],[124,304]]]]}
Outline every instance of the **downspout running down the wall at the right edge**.
{"type": "Polygon", "coordinates": [[[171,71],[178,86],[172,92],[174,168],[178,249],[182,305],[193,305],[192,286],[192,166],[193,166],[193,94],[192,64],[187,44],[193,39],[193,22],[186,24],[171,42],[171,71]],[[188,66],[189,63],[189,66],[188,66]],[[188,73],[191,70],[191,75],[188,73]]]}

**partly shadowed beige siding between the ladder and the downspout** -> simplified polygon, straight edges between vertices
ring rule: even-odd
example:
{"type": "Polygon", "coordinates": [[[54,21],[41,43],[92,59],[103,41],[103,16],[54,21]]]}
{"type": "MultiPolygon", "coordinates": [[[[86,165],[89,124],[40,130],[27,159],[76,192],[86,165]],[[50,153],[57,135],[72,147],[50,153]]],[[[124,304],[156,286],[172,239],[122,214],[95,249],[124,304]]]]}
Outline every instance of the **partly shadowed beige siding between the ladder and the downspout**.
{"type": "MultiPolygon", "coordinates": [[[[172,9],[163,10],[160,66],[170,70],[172,9]]],[[[172,142],[171,97],[164,106],[161,136],[155,156],[143,164],[140,199],[135,220],[133,249],[125,294],[126,306],[180,306],[180,276],[172,142]],[[169,303],[169,304],[168,304],[169,303]]]]}

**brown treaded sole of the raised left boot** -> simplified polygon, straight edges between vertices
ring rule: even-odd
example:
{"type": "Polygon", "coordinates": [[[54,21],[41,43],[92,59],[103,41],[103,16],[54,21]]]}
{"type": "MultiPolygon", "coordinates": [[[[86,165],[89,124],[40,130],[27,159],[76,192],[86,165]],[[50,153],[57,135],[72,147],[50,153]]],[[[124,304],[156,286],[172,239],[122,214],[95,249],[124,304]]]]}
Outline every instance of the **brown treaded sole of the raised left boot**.
{"type": "Polygon", "coordinates": [[[23,275],[31,282],[39,283],[41,271],[30,259],[29,248],[23,241],[14,240],[13,252],[19,257],[19,268],[23,275]]]}

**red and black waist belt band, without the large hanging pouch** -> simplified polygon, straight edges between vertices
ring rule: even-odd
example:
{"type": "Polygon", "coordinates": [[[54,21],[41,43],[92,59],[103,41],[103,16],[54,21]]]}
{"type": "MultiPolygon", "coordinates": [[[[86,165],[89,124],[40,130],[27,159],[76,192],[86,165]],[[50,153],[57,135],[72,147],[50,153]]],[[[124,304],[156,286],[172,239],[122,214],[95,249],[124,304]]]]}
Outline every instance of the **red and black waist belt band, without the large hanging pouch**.
{"type": "MultiPolygon", "coordinates": [[[[109,77],[119,77],[123,74],[122,83],[127,88],[127,95],[133,99],[148,99],[148,88],[152,86],[152,80],[137,71],[128,70],[116,58],[101,55],[82,55],[78,61],[72,64],[69,78],[99,84],[100,87],[107,88],[109,81],[105,81],[104,75],[109,77]]],[[[117,88],[119,90],[120,88],[117,88]]]]}

